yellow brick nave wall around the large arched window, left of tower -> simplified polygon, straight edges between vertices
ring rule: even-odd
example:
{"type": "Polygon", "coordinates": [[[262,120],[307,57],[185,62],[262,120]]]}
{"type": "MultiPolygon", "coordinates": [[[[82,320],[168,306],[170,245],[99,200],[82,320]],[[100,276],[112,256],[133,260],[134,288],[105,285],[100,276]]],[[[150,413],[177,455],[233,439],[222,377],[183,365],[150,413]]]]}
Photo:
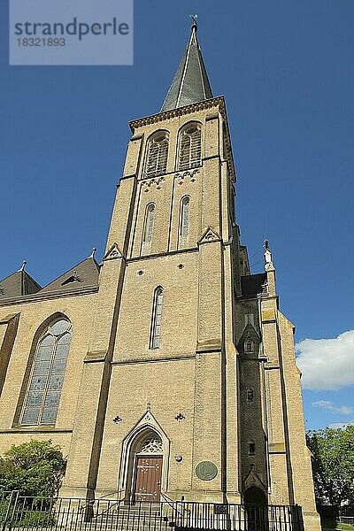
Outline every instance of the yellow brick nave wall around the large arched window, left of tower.
{"type": "MultiPolygon", "coordinates": [[[[0,396],[2,415],[0,419],[0,454],[11,444],[30,439],[51,439],[62,446],[67,455],[73,430],[78,389],[81,381],[82,362],[89,347],[89,331],[92,327],[96,294],[66,296],[27,304],[0,307],[0,320],[9,313],[19,313],[19,328],[12,348],[3,393],[0,396]],[[73,324],[73,336],[65,370],[58,418],[55,427],[16,427],[16,409],[23,405],[20,391],[24,381],[30,350],[35,333],[43,321],[56,312],[64,314],[73,324]]],[[[26,387],[24,388],[26,390],[26,387]]]]}

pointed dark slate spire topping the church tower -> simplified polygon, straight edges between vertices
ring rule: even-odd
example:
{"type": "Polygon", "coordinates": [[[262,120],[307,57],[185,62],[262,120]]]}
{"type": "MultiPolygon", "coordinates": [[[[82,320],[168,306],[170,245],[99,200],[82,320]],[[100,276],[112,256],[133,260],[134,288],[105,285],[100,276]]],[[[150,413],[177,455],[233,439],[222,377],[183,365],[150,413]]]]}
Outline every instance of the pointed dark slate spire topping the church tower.
{"type": "Polygon", "coordinates": [[[196,24],[192,26],[189,43],[167,92],[161,112],[197,104],[212,97],[212,89],[204,60],[196,38],[196,24]]]}

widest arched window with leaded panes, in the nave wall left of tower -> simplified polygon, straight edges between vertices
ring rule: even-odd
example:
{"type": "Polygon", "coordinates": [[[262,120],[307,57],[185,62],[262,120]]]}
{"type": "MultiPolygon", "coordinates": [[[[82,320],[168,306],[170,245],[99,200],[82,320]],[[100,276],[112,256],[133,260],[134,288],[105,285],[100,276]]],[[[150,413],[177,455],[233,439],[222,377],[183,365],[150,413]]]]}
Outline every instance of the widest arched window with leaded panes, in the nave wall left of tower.
{"type": "Polygon", "coordinates": [[[67,319],[51,322],[39,338],[21,424],[55,424],[71,339],[72,325],[67,319]]]}

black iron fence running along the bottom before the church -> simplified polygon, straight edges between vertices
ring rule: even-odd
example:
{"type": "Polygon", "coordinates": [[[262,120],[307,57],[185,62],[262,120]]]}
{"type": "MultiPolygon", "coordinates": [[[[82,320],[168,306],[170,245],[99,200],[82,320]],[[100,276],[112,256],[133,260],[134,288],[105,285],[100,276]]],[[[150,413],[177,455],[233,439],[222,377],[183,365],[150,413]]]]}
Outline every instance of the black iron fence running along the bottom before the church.
{"type": "Polygon", "coordinates": [[[3,531],[304,531],[298,505],[33,498],[0,493],[3,531]]]}

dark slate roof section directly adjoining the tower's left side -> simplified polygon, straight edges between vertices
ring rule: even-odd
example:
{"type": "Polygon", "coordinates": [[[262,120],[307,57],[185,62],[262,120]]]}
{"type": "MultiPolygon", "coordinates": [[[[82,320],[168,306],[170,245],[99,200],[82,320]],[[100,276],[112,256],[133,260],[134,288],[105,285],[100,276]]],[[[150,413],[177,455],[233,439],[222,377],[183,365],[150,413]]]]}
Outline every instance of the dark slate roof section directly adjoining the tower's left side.
{"type": "Polygon", "coordinates": [[[41,295],[54,291],[76,291],[82,288],[98,286],[99,266],[95,258],[89,257],[73,266],[58,279],[41,289],[41,295]]]}

